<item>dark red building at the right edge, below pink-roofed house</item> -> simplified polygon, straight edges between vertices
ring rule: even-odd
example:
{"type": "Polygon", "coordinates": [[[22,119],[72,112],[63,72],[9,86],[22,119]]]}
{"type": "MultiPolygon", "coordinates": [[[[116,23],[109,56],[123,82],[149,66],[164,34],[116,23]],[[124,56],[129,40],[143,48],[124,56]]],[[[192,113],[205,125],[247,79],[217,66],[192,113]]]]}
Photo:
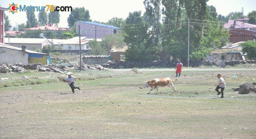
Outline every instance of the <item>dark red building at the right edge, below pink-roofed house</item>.
{"type": "Polygon", "coordinates": [[[247,29],[245,29],[244,31],[242,28],[230,29],[229,34],[230,34],[229,41],[231,43],[237,43],[242,40],[245,40],[245,41],[254,40],[254,39],[256,40],[256,32],[247,30],[247,29]],[[244,33],[244,39],[242,39],[243,33],[244,33]]]}

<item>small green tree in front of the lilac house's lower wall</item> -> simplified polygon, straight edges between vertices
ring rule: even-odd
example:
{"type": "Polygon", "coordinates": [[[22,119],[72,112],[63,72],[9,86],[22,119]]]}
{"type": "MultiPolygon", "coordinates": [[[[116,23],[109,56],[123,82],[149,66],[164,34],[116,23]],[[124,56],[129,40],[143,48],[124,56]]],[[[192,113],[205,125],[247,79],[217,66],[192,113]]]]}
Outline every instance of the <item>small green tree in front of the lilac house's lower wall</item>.
{"type": "Polygon", "coordinates": [[[100,45],[100,43],[97,41],[97,39],[90,40],[88,42],[88,45],[89,45],[89,48],[91,48],[90,51],[89,51],[90,55],[95,55],[95,56],[109,55],[108,50],[106,50],[106,48],[103,48],[100,45]]]}

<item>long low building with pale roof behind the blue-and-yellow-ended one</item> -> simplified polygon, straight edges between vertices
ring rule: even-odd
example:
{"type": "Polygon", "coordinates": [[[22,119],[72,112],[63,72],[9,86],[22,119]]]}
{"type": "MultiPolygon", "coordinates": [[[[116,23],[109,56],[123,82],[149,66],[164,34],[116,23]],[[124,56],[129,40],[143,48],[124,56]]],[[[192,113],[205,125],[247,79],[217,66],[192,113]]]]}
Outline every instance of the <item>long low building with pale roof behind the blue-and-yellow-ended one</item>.
{"type": "Polygon", "coordinates": [[[52,45],[48,39],[41,38],[4,38],[4,40],[5,44],[18,48],[25,45],[28,50],[34,50],[34,46],[42,49],[45,45],[52,45]]]}

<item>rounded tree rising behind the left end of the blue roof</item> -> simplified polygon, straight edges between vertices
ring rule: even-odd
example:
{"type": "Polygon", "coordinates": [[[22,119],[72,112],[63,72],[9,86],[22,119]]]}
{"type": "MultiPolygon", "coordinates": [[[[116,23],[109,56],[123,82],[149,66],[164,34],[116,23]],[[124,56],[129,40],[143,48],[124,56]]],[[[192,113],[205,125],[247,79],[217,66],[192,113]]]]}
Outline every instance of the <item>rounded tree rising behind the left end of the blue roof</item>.
{"type": "Polygon", "coordinates": [[[72,27],[76,21],[89,21],[91,22],[92,19],[90,19],[90,14],[88,10],[85,10],[84,7],[75,7],[72,9],[67,22],[68,26],[72,27]]]}

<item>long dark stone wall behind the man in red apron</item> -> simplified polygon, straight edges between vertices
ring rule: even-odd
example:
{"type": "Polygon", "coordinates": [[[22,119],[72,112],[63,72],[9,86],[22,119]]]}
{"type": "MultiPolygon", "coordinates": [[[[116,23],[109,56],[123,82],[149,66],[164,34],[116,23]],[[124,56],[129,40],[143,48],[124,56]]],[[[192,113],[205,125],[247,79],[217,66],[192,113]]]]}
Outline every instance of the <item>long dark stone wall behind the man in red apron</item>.
{"type": "MultiPolygon", "coordinates": [[[[134,62],[134,61],[108,61],[106,64],[103,64],[103,67],[105,68],[133,68],[133,67],[139,67],[139,68],[151,68],[151,67],[166,67],[166,68],[173,68],[176,67],[176,64],[178,61],[168,61],[168,62],[159,62],[159,61],[146,61],[146,62],[134,62]]],[[[255,64],[255,60],[232,60],[232,61],[226,61],[225,65],[237,65],[237,64],[255,64]]],[[[182,62],[183,66],[187,66],[187,61],[182,62]]],[[[189,61],[189,65],[191,67],[198,67],[200,65],[216,65],[220,66],[219,62],[216,61],[189,61]]]]}

